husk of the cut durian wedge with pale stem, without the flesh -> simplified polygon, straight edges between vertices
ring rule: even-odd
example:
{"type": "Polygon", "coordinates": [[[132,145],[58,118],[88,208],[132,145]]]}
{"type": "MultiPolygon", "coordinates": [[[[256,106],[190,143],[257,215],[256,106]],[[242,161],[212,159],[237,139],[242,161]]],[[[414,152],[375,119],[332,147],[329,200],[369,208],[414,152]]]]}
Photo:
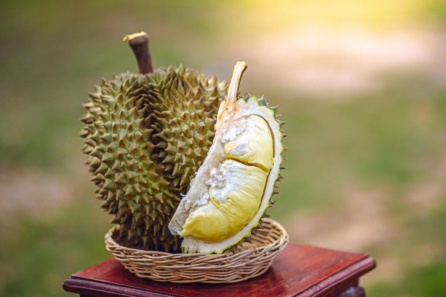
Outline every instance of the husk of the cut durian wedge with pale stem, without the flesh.
{"type": "Polygon", "coordinates": [[[286,148],[281,143],[281,140],[284,137],[281,127],[285,122],[279,120],[280,115],[276,114],[277,106],[268,106],[264,97],[257,99],[255,96],[249,94],[244,97],[237,97],[240,78],[245,68],[246,64],[244,64],[244,62],[238,62],[234,68],[227,98],[221,103],[219,108],[218,120],[216,123],[217,134],[208,157],[203,162],[202,167],[198,169],[196,177],[191,183],[190,191],[179,203],[178,208],[169,223],[169,229],[172,234],[177,234],[178,231],[182,230],[182,226],[186,222],[189,212],[198,205],[197,203],[200,194],[206,191],[206,181],[210,178],[209,172],[212,168],[218,167],[219,164],[226,159],[226,155],[223,152],[221,137],[222,131],[226,129],[228,125],[231,125],[230,122],[227,122],[227,117],[229,117],[228,114],[234,109],[238,110],[238,117],[256,114],[264,118],[273,135],[273,167],[268,174],[260,207],[254,217],[240,230],[240,232],[220,242],[209,243],[199,240],[194,236],[185,236],[182,242],[182,248],[185,252],[222,253],[225,250],[234,252],[237,245],[243,245],[244,241],[250,242],[251,234],[255,232],[257,228],[261,228],[261,218],[268,216],[266,209],[273,205],[271,197],[278,193],[275,183],[283,178],[280,174],[280,169],[283,169],[281,163],[285,158],[281,154],[286,148]]]}

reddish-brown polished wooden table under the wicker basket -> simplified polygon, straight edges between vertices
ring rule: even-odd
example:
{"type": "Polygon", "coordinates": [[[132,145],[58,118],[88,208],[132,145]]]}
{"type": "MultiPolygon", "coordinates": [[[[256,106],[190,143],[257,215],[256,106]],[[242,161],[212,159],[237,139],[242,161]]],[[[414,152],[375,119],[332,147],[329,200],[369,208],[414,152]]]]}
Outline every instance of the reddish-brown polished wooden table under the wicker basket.
{"type": "Polygon", "coordinates": [[[129,273],[114,258],[74,273],[63,283],[80,296],[365,296],[358,279],[375,268],[366,254],[288,244],[263,275],[234,284],[176,284],[129,273]]]}

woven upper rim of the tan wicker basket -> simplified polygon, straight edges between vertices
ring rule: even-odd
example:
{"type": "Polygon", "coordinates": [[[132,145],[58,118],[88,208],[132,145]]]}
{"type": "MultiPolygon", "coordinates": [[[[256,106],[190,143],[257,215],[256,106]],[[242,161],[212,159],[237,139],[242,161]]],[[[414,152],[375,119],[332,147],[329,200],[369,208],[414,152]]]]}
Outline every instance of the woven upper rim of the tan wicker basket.
{"type": "MultiPolygon", "coordinates": [[[[224,252],[222,254],[208,254],[208,253],[204,253],[204,252],[170,253],[170,252],[161,252],[161,251],[150,251],[150,250],[148,251],[148,250],[143,250],[143,249],[139,249],[139,248],[128,248],[128,247],[126,247],[126,246],[124,246],[122,244],[118,244],[116,242],[116,240],[113,238],[113,232],[115,232],[116,229],[119,227],[118,225],[115,225],[115,226],[111,227],[110,229],[108,229],[107,233],[104,236],[104,239],[106,240],[107,245],[111,244],[111,245],[117,246],[120,249],[123,249],[123,250],[125,250],[127,252],[131,252],[131,255],[151,255],[152,256],[153,254],[158,254],[158,256],[157,256],[158,259],[160,259],[159,257],[162,257],[162,256],[174,256],[174,255],[176,255],[176,256],[188,256],[188,257],[190,257],[190,256],[215,256],[215,255],[228,255],[228,256],[231,256],[231,255],[235,255],[235,254],[239,255],[239,254],[242,254],[244,252],[250,252],[252,250],[260,251],[260,250],[263,250],[264,248],[266,248],[268,246],[273,246],[273,245],[277,244],[281,240],[284,240],[285,244],[288,244],[288,242],[289,242],[289,235],[286,232],[285,228],[280,223],[278,223],[277,221],[275,221],[273,219],[269,219],[269,218],[263,218],[261,220],[261,222],[262,223],[264,222],[264,223],[273,224],[276,228],[278,228],[281,231],[281,236],[277,240],[274,240],[273,242],[271,242],[270,244],[267,244],[267,245],[263,245],[263,246],[260,246],[260,247],[257,247],[257,248],[248,249],[248,250],[244,250],[244,251],[240,251],[240,252],[224,252]]],[[[263,229],[259,229],[259,230],[261,231],[263,229]]]]}

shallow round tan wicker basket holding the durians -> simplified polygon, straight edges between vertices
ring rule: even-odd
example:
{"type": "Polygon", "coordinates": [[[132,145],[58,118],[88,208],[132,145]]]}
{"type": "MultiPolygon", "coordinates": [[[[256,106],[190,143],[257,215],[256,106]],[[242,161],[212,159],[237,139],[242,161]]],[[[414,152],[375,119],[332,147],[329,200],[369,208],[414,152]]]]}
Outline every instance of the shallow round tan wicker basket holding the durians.
{"type": "Polygon", "coordinates": [[[263,229],[251,236],[235,253],[171,254],[126,248],[112,238],[114,228],[105,235],[107,250],[130,272],[153,281],[175,283],[235,283],[264,273],[289,242],[281,224],[264,218],[263,229]]]}

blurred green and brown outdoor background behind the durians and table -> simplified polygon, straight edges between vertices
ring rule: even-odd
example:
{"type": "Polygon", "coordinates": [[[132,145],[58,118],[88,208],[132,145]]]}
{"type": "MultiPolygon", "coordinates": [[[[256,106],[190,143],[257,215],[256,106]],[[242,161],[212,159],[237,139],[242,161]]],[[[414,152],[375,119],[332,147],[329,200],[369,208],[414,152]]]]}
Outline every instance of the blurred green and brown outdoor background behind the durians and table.
{"type": "Polygon", "coordinates": [[[369,296],[446,295],[446,2],[2,1],[0,295],[70,296],[110,255],[78,121],[101,77],[188,65],[279,105],[272,217],[294,242],[367,252],[369,296]]]}

